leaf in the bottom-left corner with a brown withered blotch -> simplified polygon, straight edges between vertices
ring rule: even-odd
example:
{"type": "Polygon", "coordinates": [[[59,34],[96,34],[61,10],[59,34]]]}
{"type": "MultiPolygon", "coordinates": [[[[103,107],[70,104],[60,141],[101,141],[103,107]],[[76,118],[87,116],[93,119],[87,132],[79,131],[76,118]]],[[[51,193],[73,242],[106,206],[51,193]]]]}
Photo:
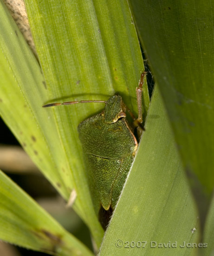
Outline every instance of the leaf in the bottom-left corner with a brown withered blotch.
{"type": "Polygon", "coordinates": [[[0,171],[0,239],[56,256],[92,256],[44,209],[0,171]]]}

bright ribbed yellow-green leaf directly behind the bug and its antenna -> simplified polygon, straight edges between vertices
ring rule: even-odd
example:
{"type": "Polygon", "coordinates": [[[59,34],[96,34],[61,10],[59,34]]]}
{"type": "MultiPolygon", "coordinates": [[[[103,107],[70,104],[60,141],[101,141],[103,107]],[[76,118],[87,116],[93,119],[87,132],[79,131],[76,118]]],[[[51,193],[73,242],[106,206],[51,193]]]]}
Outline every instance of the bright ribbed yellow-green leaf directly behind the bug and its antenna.
{"type": "MultiPolygon", "coordinates": [[[[44,104],[106,100],[119,92],[131,110],[137,112],[135,89],[143,59],[127,2],[26,0],[26,8],[49,92],[49,101],[44,104]]],[[[145,117],[149,107],[146,85],[143,90],[145,117]]],[[[100,226],[94,222],[91,201],[87,199],[77,127],[103,108],[91,103],[43,110],[55,121],[65,155],[65,160],[60,160],[68,164],[78,194],[75,207],[80,209],[94,236],[100,233],[100,226]]],[[[99,202],[94,204],[97,213],[99,202]]]]}

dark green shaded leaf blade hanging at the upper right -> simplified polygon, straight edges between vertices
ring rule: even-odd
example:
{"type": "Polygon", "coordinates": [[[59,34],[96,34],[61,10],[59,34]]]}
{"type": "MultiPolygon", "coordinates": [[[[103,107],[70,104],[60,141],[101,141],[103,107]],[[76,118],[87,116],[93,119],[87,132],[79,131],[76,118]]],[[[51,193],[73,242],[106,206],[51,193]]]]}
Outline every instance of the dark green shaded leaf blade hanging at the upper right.
{"type": "Polygon", "coordinates": [[[213,1],[130,3],[203,228],[214,188],[213,1]]]}

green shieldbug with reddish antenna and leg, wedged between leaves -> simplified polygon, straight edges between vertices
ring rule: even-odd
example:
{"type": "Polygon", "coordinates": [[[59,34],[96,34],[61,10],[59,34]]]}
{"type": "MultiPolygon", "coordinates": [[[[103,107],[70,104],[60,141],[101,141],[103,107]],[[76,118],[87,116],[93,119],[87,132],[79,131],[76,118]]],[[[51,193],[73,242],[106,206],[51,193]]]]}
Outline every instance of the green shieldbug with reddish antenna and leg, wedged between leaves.
{"type": "Polygon", "coordinates": [[[130,113],[133,126],[138,129],[138,137],[143,131],[142,88],[145,74],[146,72],[141,74],[139,86],[136,88],[137,119],[118,94],[110,97],[108,101],[68,101],[43,106],[46,108],[77,103],[105,103],[100,114],[91,116],[78,125],[84,157],[104,211],[111,212],[115,208],[138,146],[133,129],[126,120],[126,112],[130,113]]]}

